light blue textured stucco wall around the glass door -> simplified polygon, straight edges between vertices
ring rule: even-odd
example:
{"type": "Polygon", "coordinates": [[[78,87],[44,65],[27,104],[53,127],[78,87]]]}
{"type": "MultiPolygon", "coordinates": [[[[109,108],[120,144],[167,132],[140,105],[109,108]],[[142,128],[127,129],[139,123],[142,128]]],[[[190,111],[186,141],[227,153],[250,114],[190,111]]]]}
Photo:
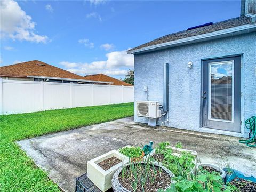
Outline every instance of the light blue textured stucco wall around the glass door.
{"type": "MultiPolygon", "coordinates": [[[[167,126],[201,131],[201,61],[236,54],[242,54],[241,120],[244,122],[256,115],[255,32],[134,55],[134,101],[147,100],[143,87],[148,86],[149,101],[163,103],[163,65],[167,62],[170,85],[167,126]]],[[[134,121],[148,123],[146,117],[136,115],[134,121]]],[[[248,137],[248,130],[242,129],[241,135],[248,137]]]]}

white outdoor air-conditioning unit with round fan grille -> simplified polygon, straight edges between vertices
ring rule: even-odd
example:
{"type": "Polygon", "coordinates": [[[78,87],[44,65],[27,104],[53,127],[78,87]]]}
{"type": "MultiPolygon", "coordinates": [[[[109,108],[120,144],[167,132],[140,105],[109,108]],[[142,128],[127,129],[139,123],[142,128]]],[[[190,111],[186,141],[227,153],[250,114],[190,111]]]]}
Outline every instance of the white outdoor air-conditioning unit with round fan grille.
{"type": "Polygon", "coordinates": [[[161,117],[160,103],[158,101],[136,101],[136,115],[142,117],[161,117]]]}

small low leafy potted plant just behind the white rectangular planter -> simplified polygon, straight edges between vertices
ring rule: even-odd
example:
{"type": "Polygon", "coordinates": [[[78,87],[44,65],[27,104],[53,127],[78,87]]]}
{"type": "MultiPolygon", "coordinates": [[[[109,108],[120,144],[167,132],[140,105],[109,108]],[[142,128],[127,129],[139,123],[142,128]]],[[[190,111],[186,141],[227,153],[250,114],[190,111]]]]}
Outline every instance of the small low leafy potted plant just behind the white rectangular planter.
{"type": "Polygon", "coordinates": [[[119,149],[119,153],[129,157],[132,162],[142,161],[145,156],[144,151],[140,147],[125,146],[119,149]]]}

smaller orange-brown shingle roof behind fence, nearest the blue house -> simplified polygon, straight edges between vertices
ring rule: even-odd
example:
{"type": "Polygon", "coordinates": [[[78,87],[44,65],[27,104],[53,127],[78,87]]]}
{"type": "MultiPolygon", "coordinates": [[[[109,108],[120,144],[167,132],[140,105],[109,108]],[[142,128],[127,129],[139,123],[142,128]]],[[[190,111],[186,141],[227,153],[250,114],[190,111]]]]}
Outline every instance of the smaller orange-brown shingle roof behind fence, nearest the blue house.
{"type": "Polygon", "coordinates": [[[105,74],[94,74],[94,75],[86,75],[84,76],[84,79],[87,80],[94,80],[94,81],[108,81],[108,82],[113,82],[111,85],[124,85],[124,86],[133,86],[132,84],[120,81],[116,78],[109,77],[105,74]]]}

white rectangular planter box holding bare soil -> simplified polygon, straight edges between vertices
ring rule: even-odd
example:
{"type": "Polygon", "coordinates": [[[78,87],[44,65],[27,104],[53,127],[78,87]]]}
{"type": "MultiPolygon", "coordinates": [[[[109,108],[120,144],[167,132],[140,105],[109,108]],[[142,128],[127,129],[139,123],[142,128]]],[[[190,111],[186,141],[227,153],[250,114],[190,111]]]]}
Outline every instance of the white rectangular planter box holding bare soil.
{"type": "Polygon", "coordinates": [[[105,192],[112,187],[111,179],[113,178],[113,174],[126,163],[129,163],[128,157],[116,150],[111,150],[108,153],[87,162],[87,176],[95,186],[97,186],[101,191],[105,192]],[[117,157],[118,159],[122,160],[122,162],[116,164],[106,171],[97,165],[98,163],[110,157],[117,157]]]}

